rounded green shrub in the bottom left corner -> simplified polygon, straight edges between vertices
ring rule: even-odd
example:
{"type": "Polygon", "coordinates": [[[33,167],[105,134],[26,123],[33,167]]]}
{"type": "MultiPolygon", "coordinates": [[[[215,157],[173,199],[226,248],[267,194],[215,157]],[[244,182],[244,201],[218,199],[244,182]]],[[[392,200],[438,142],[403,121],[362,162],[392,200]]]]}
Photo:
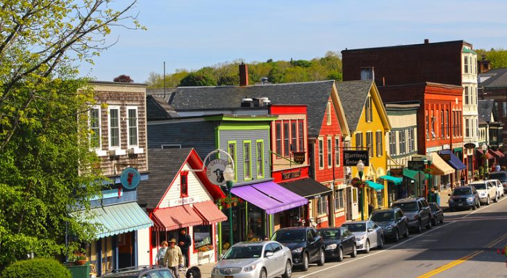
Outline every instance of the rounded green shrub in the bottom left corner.
{"type": "Polygon", "coordinates": [[[3,270],[1,277],[9,278],[72,278],[70,271],[55,259],[37,258],[17,261],[3,270]]]}

